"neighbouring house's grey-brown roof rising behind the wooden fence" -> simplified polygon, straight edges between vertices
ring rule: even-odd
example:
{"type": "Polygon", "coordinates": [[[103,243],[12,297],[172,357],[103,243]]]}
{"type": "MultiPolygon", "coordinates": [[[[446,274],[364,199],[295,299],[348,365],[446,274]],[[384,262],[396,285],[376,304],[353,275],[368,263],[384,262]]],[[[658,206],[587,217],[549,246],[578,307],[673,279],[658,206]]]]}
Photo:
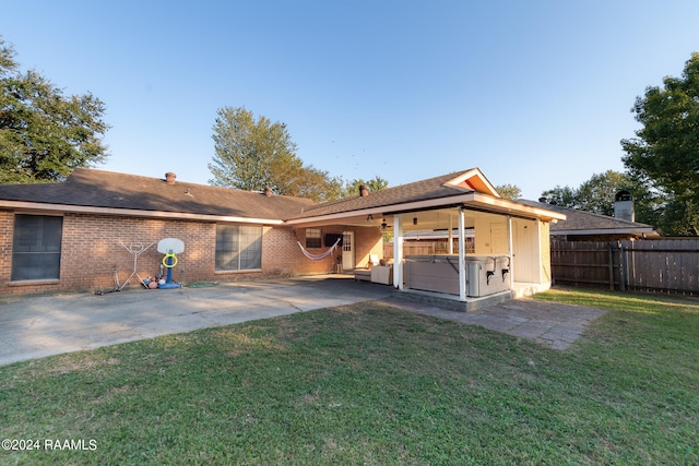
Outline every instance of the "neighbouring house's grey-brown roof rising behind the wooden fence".
{"type": "Polygon", "coordinates": [[[550,225],[550,234],[556,235],[630,235],[636,237],[660,236],[652,226],[592,212],[579,211],[570,207],[561,207],[555,204],[546,204],[536,201],[518,200],[531,206],[541,206],[566,215],[565,220],[550,225]]]}

